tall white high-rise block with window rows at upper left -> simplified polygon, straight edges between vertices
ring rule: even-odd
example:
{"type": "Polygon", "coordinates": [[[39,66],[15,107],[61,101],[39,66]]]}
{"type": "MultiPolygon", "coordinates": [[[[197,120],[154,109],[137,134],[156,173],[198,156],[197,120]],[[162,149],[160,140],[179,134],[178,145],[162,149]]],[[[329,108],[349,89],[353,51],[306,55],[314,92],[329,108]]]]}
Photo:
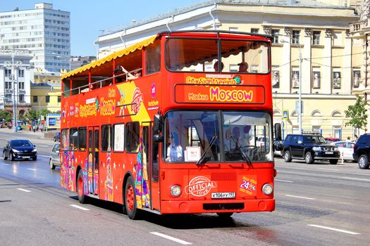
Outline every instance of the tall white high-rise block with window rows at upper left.
{"type": "Polygon", "coordinates": [[[0,48],[32,51],[32,67],[47,72],[70,70],[70,13],[52,4],[1,12],[0,48]]]}

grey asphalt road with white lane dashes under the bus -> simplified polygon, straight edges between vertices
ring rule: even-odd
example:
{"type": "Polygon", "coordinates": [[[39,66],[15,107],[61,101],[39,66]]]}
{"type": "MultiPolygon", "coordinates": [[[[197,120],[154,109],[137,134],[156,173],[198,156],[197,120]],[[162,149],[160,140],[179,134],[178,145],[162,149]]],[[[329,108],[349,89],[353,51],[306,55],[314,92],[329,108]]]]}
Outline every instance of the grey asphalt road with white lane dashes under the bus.
{"type": "Polygon", "coordinates": [[[37,145],[37,161],[0,159],[1,245],[369,245],[370,169],[356,163],[276,159],[276,211],[159,216],[132,221],[121,205],[80,205],[49,169],[53,141],[0,129],[37,145]],[[172,237],[172,238],[171,238],[172,237]]]}

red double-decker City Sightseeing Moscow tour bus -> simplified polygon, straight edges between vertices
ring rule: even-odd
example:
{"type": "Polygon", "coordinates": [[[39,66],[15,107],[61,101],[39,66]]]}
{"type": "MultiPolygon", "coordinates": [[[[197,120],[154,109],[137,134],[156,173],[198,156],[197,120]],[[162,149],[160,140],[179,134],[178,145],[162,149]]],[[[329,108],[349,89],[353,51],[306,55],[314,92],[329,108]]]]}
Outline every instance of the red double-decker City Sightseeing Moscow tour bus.
{"type": "Polygon", "coordinates": [[[270,56],[266,35],[163,32],[63,75],[61,186],[130,219],[273,211],[270,56]]]}

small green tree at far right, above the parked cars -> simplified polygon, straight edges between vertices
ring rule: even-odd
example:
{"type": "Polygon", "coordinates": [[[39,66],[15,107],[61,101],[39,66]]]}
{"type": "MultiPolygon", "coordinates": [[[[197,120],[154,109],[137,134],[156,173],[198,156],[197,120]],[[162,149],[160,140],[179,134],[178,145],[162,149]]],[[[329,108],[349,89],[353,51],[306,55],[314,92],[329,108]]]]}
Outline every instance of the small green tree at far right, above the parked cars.
{"type": "Polygon", "coordinates": [[[367,125],[367,115],[366,115],[366,106],[369,105],[366,101],[363,100],[362,96],[357,98],[354,105],[348,106],[348,110],[345,110],[345,117],[350,119],[349,122],[345,123],[345,127],[352,126],[357,129],[363,129],[366,131],[367,125]]]}

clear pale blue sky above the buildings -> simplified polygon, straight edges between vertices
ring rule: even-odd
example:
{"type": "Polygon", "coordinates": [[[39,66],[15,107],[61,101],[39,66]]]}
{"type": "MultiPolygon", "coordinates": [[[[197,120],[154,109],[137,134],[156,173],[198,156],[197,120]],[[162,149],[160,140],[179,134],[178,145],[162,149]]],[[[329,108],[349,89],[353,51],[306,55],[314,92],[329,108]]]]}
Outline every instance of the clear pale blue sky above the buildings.
{"type": "Polygon", "coordinates": [[[199,0],[11,0],[1,1],[0,12],[34,9],[36,3],[53,4],[54,9],[70,12],[71,56],[96,56],[94,41],[101,30],[146,20],[161,13],[197,3],[199,0]]]}

